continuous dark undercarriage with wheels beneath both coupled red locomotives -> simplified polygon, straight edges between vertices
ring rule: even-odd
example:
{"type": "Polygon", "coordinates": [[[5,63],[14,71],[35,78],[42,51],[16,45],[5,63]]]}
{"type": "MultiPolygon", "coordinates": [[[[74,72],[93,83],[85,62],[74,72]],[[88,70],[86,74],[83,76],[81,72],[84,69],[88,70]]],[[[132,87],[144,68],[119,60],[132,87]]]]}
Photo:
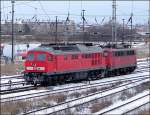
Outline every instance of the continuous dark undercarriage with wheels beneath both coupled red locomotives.
{"type": "Polygon", "coordinates": [[[81,80],[96,80],[103,77],[112,77],[117,75],[125,75],[133,72],[136,69],[136,66],[126,67],[126,68],[117,68],[117,69],[97,69],[89,71],[80,71],[80,72],[70,72],[70,73],[61,73],[61,74],[51,74],[46,73],[25,73],[24,78],[27,83],[37,85],[56,85],[64,84],[68,82],[77,82],[81,80]]]}

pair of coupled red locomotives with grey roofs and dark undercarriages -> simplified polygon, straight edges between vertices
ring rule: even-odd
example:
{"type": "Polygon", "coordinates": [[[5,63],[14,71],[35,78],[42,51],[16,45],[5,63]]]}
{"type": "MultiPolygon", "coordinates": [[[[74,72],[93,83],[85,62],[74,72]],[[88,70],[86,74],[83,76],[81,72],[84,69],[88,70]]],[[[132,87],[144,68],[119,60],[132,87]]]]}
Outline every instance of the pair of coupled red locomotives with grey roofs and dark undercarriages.
{"type": "Polygon", "coordinates": [[[41,45],[28,51],[24,78],[31,84],[56,84],[125,74],[136,68],[135,50],[98,46],[41,45]]]}

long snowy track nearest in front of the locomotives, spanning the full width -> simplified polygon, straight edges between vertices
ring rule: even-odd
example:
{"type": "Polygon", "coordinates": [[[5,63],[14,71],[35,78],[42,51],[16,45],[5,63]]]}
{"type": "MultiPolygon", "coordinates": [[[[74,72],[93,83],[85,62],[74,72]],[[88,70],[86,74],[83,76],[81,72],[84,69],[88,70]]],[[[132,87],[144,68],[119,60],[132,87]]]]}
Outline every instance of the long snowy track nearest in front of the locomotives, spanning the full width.
{"type": "Polygon", "coordinates": [[[12,97],[7,97],[7,98],[3,98],[1,97],[1,103],[5,103],[8,101],[19,101],[19,100],[27,100],[27,99],[31,99],[31,98],[38,98],[38,97],[44,97],[50,94],[57,94],[57,93],[63,93],[63,92],[68,92],[68,91],[75,91],[75,90],[83,90],[83,89],[89,89],[89,88],[97,88],[97,87],[101,87],[101,86],[106,86],[106,85],[110,85],[110,84],[114,84],[117,82],[127,82],[127,81],[133,81],[133,80],[139,80],[139,79],[145,79],[148,78],[149,76],[135,76],[132,78],[120,78],[117,80],[107,80],[104,82],[98,82],[98,83],[90,83],[90,84],[84,84],[84,85],[77,85],[77,86],[73,86],[73,87],[67,87],[67,88],[60,88],[60,89],[55,89],[55,90],[49,90],[49,91],[42,91],[42,92],[37,92],[37,93],[32,93],[32,94],[24,94],[24,95],[18,95],[18,96],[12,96],[12,97]]]}

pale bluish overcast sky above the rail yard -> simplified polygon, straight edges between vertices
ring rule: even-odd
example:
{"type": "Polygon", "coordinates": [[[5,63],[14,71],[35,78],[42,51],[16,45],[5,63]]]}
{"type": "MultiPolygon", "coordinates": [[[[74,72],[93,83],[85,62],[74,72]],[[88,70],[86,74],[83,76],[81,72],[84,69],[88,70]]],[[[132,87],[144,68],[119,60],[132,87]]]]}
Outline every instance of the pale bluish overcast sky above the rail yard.
{"type": "MultiPolygon", "coordinates": [[[[11,2],[2,1],[2,20],[11,20],[11,2]]],[[[117,20],[122,23],[127,21],[133,12],[133,23],[148,22],[148,1],[117,1],[117,20]]],[[[40,20],[59,20],[67,18],[81,22],[81,10],[85,9],[85,18],[88,23],[101,23],[105,17],[107,22],[112,16],[112,1],[16,1],[15,19],[32,19],[35,15],[40,20]]]]}

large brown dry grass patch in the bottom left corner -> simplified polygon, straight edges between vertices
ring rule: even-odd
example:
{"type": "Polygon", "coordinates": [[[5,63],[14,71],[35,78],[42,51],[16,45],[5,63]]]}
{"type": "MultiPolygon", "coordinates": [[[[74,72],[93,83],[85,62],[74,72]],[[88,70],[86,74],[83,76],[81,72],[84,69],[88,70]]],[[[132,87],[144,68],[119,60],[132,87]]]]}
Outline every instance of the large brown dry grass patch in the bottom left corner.
{"type": "Polygon", "coordinates": [[[27,101],[7,102],[1,104],[2,114],[17,114],[20,112],[26,112],[34,108],[51,106],[50,101],[57,103],[64,102],[67,97],[64,94],[60,95],[49,95],[41,99],[33,99],[27,101]]]}

